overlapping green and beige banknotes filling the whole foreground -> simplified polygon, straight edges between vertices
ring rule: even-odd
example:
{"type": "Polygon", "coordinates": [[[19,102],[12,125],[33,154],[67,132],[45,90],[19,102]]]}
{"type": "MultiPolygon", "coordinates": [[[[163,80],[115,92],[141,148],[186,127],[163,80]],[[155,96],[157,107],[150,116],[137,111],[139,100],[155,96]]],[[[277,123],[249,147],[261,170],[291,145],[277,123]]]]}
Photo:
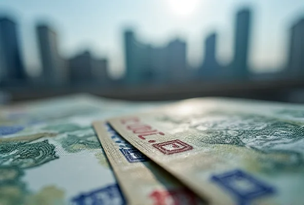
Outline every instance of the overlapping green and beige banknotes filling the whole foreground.
{"type": "Polygon", "coordinates": [[[81,94],[1,107],[11,204],[304,204],[304,106],[81,94]]]}

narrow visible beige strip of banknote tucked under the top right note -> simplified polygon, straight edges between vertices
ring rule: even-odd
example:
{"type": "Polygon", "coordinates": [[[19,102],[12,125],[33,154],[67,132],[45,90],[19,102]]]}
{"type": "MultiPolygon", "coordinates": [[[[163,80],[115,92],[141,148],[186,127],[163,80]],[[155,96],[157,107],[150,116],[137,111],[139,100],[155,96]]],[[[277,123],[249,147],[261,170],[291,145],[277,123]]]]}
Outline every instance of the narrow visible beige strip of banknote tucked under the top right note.
{"type": "Polygon", "coordinates": [[[204,204],[104,121],[93,123],[128,204],[204,204]]]}

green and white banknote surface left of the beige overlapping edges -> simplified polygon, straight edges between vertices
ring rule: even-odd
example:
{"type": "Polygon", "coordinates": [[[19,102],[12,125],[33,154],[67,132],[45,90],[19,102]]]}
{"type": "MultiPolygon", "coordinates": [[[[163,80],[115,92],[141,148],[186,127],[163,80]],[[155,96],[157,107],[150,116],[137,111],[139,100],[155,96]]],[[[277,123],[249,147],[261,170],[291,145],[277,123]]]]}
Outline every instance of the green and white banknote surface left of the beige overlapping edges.
{"type": "Polygon", "coordinates": [[[132,107],[82,95],[2,109],[0,204],[124,204],[91,122],[132,107]]]}

